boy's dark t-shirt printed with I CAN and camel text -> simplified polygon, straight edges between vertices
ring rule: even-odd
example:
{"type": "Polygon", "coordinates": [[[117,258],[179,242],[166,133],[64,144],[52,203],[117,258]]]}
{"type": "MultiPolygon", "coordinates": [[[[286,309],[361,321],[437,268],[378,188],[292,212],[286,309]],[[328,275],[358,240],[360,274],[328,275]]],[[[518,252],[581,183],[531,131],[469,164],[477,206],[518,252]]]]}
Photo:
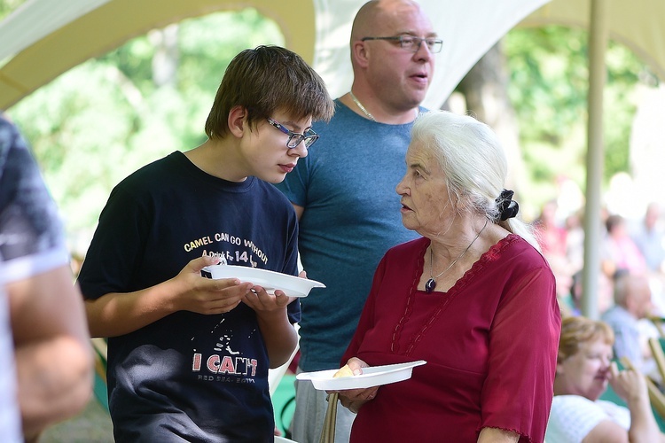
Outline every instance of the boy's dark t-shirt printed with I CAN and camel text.
{"type": "MultiPolygon", "coordinates": [[[[297,275],[293,206],[270,183],[207,175],[182,152],[113,189],[83,262],[87,299],[176,276],[202,255],[297,275]]],[[[288,308],[300,321],[300,304],[288,308]]],[[[254,311],[180,311],[109,338],[107,381],[116,441],[272,441],[268,356],[254,311]]]]}

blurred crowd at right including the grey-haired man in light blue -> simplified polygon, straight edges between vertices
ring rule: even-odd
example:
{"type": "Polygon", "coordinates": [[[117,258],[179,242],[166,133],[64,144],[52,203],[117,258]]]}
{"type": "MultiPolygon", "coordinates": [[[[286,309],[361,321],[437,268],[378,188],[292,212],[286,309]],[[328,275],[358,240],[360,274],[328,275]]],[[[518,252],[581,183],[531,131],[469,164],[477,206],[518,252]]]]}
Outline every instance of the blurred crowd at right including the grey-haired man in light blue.
{"type": "MultiPolygon", "coordinates": [[[[583,212],[561,216],[556,199],[534,221],[545,258],[557,279],[563,316],[582,315],[583,212]]],[[[598,291],[584,294],[615,334],[615,358],[628,357],[638,369],[662,382],[649,338],[663,337],[665,317],[665,218],[658,202],[633,217],[603,208],[598,291]]]]}

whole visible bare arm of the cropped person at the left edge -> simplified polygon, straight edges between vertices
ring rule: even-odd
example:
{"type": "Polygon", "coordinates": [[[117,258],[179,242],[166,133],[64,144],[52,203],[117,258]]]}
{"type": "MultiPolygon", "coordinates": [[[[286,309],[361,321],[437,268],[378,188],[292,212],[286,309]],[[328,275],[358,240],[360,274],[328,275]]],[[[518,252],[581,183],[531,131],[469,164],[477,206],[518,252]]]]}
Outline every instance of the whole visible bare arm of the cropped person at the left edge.
{"type": "Polygon", "coordinates": [[[19,403],[27,437],[80,410],[92,390],[92,352],[81,292],[64,265],[5,287],[19,403]]]}

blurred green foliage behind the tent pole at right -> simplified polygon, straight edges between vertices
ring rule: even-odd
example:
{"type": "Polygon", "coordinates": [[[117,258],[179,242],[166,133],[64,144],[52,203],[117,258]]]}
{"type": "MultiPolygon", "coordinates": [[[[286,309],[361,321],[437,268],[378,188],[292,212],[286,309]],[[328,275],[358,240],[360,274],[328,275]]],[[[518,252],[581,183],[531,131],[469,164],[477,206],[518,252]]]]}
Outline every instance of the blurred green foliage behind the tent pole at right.
{"type": "MultiPolygon", "coordinates": [[[[585,178],[588,36],[585,30],[540,27],[512,30],[504,39],[511,74],[509,96],[520,120],[520,143],[534,183],[549,189],[565,175],[582,188],[585,178]]],[[[630,172],[630,127],[638,82],[656,77],[624,46],[606,54],[605,177],[630,172]]]]}

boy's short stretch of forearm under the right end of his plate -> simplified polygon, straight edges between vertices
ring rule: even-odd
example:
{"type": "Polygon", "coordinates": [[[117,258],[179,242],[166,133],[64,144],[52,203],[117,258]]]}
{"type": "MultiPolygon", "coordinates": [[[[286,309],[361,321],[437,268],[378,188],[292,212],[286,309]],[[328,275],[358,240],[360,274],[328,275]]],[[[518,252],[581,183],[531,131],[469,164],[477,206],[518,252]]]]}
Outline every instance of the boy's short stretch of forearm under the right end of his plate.
{"type": "Polygon", "coordinates": [[[270,368],[278,368],[288,361],[298,344],[298,335],[289,323],[286,308],[270,316],[257,315],[259,329],[268,349],[270,368]]]}

